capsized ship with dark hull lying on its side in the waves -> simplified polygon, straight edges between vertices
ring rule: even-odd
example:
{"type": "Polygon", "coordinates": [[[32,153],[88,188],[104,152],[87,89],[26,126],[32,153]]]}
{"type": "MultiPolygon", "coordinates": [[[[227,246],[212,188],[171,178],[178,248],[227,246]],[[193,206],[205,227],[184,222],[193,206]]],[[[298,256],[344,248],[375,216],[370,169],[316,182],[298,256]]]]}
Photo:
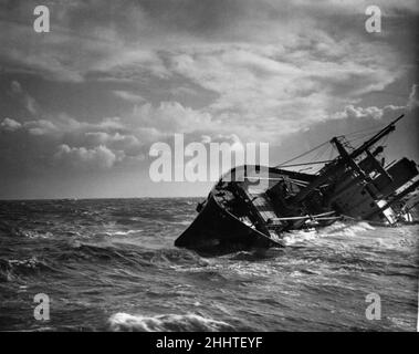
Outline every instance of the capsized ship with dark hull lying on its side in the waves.
{"type": "Polygon", "coordinates": [[[388,226],[417,222],[418,165],[406,157],[386,165],[379,145],[402,117],[356,148],[345,136],[333,137],[325,144],[332,144],[338,156],[321,162],[316,174],[286,169],[296,165],[232,168],[198,204],[197,218],[175,246],[228,253],[284,247],[287,232],[342,219],[388,226]]]}

